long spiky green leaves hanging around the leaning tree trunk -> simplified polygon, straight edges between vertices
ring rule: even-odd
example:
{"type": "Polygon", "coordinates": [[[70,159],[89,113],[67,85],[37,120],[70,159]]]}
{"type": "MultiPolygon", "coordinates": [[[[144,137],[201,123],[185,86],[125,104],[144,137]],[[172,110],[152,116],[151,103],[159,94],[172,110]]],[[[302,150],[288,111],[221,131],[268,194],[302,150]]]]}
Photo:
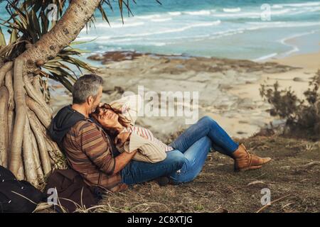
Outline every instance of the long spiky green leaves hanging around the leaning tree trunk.
{"type": "MultiPolygon", "coordinates": [[[[4,0],[0,0],[0,3],[4,0]]],[[[136,1],[132,0],[134,4],[136,1]]],[[[158,0],[155,0],[159,2],[158,0]]],[[[63,16],[63,11],[68,6],[68,0],[6,0],[6,11],[9,13],[9,19],[4,20],[0,18],[1,25],[9,28],[8,32],[10,35],[10,40],[8,45],[4,39],[4,34],[0,28],[0,58],[1,60],[13,60],[21,52],[26,50],[26,43],[36,43],[44,34],[50,31],[56,21],[49,21],[48,13],[50,13],[52,6],[50,4],[55,4],[57,9],[57,21],[63,16]]],[[[129,0],[117,0],[120,15],[123,21],[123,11],[127,9],[128,16],[132,11],[129,7],[129,0]]],[[[113,7],[110,0],[101,0],[100,5],[97,7],[97,11],[101,13],[102,19],[110,22],[107,18],[107,13],[103,8],[107,5],[112,11],[113,7]]],[[[133,16],[133,14],[132,14],[133,16]]],[[[95,17],[93,16],[87,22],[87,28],[95,22],[95,17]]],[[[58,55],[53,59],[46,62],[39,71],[39,74],[44,77],[49,77],[54,79],[61,84],[63,84],[68,90],[71,91],[72,83],[77,79],[77,75],[72,69],[72,65],[78,69],[80,74],[82,70],[87,70],[89,72],[95,72],[96,68],[78,59],[76,56],[80,56],[84,53],[84,50],[74,48],[74,45],[78,45],[84,42],[73,42],[68,47],[60,50],[58,55]]]]}

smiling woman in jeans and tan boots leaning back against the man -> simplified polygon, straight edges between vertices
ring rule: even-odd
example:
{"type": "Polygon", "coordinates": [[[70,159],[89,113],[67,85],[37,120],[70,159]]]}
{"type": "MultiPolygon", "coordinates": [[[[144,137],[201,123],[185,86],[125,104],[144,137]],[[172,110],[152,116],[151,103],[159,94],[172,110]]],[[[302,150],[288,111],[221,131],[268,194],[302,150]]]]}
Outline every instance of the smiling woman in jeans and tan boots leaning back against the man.
{"type": "MultiPolygon", "coordinates": [[[[270,157],[258,157],[249,153],[243,144],[235,143],[228,133],[209,116],[201,118],[181,133],[176,140],[166,145],[154,138],[147,128],[134,126],[137,118],[134,118],[132,113],[137,112],[137,108],[132,101],[128,100],[127,102],[125,100],[114,101],[110,105],[99,106],[92,116],[121,143],[130,140],[132,133],[137,133],[147,140],[158,143],[164,152],[178,150],[183,153],[185,157],[183,167],[168,176],[174,184],[191,182],[201,172],[211,147],[233,158],[235,171],[259,169],[271,160],[270,157]]],[[[139,100],[139,98],[134,100],[139,100]]]]}

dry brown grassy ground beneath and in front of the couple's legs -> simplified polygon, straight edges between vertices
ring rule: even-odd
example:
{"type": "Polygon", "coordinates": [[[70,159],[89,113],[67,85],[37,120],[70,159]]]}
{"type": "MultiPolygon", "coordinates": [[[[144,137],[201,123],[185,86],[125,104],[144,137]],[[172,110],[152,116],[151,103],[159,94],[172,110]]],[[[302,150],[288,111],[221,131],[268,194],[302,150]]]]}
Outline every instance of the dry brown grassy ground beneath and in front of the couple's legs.
{"type": "Polygon", "coordinates": [[[238,142],[272,162],[260,170],[233,172],[233,160],[213,152],[193,182],[135,185],[107,194],[95,211],[255,212],[262,208],[263,188],[270,189],[272,204],[262,212],[320,211],[319,141],[256,135],[238,142]]]}

